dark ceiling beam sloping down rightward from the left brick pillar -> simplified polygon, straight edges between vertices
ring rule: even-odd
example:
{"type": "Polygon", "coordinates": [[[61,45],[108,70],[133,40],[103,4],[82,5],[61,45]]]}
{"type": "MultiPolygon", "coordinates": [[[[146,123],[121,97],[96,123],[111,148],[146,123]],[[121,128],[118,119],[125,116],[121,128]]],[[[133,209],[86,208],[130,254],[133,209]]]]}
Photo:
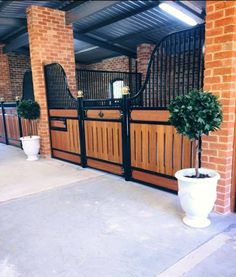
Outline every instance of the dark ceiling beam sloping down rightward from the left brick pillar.
{"type": "Polygon", "coordinates": [[[116,45],[114,45],[114,44],[112,44],[108,41],[103,41],[103,40],[96,39],[96,38],[93,38],[93,37],[90,37],[90,36],[87,36],[87,35],[79,35],[79,34],[74,34],[74,39],[81,40],[81,41],[90,43],[94,46],[99,46],[101,48],[104,48],[104,49],[107,49],[107,50],[110,50],[110,51],[114,51],[114,52],[117,52],[119,54],[131,57],[131,58],[136,58],[136,53],[135,52],[133,52],[131,50],[124,49],[124,48],[119,47],[119,46],[116,46],[116,45]]]}

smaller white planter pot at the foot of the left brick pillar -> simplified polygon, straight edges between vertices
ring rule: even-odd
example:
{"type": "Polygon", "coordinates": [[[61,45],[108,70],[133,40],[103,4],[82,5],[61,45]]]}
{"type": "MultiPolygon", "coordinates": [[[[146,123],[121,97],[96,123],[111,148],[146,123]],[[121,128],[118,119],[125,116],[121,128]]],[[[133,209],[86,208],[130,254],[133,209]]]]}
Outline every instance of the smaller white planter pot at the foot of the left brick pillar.
{"type": "Polygon", "coordinates": [[[40,137],[32,136],[32,137],[22,137],[20,138],[22,142],[22,147],[27,155],[27,161],[36,161],[39,159],[38,153],[40,148],[40,137]]]}

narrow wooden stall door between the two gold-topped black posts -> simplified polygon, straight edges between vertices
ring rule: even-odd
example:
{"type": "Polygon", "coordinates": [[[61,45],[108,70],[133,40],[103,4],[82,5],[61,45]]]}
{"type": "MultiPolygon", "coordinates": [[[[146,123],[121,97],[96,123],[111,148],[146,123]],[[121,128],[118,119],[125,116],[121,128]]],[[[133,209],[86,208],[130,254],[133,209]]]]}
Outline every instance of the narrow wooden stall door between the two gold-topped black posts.
{"type": "Polygon", "coordinates": [[[122,128],[119,110],[88,110],[85,117],[87,165],[122,175],[122,128]]]}

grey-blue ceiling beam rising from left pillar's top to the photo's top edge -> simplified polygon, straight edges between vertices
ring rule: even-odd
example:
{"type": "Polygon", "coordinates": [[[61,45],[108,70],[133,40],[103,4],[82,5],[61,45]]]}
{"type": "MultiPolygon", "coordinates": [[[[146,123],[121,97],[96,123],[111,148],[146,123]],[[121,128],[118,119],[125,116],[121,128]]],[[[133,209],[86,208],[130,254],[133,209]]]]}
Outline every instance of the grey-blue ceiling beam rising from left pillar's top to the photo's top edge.
{"type": "Polygon", "coordinates": [[[75,23],[78,20],[84,19],[120,2],[121,1],[87,1],[83,5],[79,4],[66,12],[66,24],[75,23]]]}

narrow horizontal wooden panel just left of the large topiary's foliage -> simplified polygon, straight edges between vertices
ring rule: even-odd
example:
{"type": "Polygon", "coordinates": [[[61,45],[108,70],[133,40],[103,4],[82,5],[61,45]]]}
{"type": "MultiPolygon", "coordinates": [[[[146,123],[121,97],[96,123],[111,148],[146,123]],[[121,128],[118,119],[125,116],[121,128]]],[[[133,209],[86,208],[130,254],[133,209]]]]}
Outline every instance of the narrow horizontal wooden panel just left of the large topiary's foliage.
{"type": "Polygon", "coordinates": [[[152,111],[152,110],[133,110],[131,112],[132,120],[142,121],[168,121],[168,111],[152,111]]]}

